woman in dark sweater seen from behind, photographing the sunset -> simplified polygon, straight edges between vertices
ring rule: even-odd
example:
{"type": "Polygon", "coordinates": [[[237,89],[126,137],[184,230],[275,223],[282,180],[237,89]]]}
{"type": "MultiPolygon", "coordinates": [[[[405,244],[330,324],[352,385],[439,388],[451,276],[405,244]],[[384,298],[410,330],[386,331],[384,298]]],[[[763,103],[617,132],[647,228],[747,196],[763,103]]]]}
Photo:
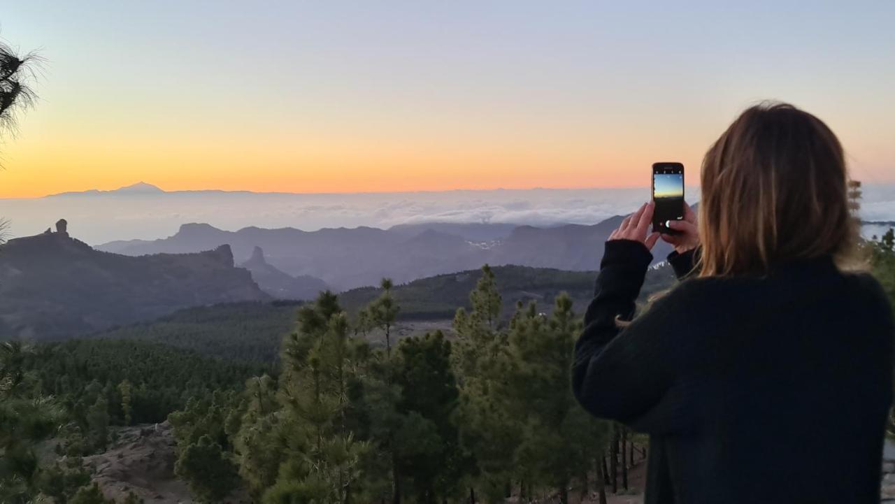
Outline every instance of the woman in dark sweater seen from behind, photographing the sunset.
{"type": "Polygon", "coordinates": [[[660,238],[652,202],[606,243],[575,346],[575,396],[651,434],[646,502],[880,501],[891,307],[842,269],[856,242],[839,141],[783,104],[746,110],[671,222],[685,278],[635,320],[660,238]]]}

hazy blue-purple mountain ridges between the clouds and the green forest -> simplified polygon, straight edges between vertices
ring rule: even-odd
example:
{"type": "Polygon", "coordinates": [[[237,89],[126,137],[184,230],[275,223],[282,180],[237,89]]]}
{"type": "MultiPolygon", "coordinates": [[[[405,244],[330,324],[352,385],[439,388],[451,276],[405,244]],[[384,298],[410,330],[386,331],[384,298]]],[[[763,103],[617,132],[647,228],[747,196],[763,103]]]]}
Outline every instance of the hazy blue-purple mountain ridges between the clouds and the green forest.
{"type": "MultiPolygon", "coordinates": [[[[191,306],[311,299],[322,289],[373,286],[384,277],[405,284],[484,263],[549,268],[553,277],[572,274],[560,269],[590,271],[591,280],[575,284],[584,292],[592,288],[602,243],[619,219],[547,228],[448,223],[312,232],[260,227],[228,232],[188,224],[166,239],[96,249],[69,235],[77,223],[60,223],[55,232],[0,245],[0,337],[67,337],[191,306]]],[[[657,259],[668,252],[661,247],[657,259]]],[[[358,292],[361,298],[375,295],[358,292]]],[[[446,292],[427,295],[436,299],[446,292]]],[[[436,304],[425,304],[422,312],[436,304]]]]}

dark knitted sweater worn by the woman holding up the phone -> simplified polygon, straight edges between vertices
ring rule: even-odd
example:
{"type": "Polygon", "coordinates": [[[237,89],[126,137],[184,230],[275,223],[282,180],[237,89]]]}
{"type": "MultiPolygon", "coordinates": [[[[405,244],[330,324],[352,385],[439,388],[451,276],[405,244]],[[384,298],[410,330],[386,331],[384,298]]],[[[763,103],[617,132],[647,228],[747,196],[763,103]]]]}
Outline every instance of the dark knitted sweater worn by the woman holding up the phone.
{"type": "Polygon", "coordinates": [[[830,258],[688,278],[619,329],[650,261],[606,243],[573,368],[586,410],[651,435],[646,503],[878,503],[895,329],[874,278],[830,258]]]}

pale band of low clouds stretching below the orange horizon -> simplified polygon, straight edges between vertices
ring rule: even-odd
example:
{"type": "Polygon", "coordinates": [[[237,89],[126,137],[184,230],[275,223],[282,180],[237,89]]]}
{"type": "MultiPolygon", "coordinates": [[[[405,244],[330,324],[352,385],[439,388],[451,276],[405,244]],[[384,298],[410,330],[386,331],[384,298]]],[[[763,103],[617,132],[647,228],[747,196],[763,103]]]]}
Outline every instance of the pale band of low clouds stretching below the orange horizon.
{"type": "MultiPolygon", "coordinates": [[[[688,201],[698,200],[697,188],[688,187],[686,194],[688,201]]],[[[626,214],[648,198],[648,188],[352,194],[110,192],[0,199],[0,216],[9,221],[9,237],[40,233],[65,218],[72,235],[99,244],[174,235],[182,224],[190,222],[226,230],[259,226],[306,231],[424,222],[595,224],[626,214]]],[[[866,186],[862,217],[895,220],[895,184],[866,186]]]]}

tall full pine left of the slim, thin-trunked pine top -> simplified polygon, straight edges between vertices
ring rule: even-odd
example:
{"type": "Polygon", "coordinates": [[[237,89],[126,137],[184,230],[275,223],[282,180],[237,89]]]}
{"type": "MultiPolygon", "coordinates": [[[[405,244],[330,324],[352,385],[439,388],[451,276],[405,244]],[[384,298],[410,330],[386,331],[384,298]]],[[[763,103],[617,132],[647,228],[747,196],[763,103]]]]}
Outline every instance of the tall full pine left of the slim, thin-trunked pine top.
{"type": "Polygon", "coordinates": [[[367,445],[345,423],[353,358],[349,330],[336,296],[322,293],[300,310],[298,330],[284,341],[277,402],[286,447],[264,502],[350,499],[367,445]]]}

